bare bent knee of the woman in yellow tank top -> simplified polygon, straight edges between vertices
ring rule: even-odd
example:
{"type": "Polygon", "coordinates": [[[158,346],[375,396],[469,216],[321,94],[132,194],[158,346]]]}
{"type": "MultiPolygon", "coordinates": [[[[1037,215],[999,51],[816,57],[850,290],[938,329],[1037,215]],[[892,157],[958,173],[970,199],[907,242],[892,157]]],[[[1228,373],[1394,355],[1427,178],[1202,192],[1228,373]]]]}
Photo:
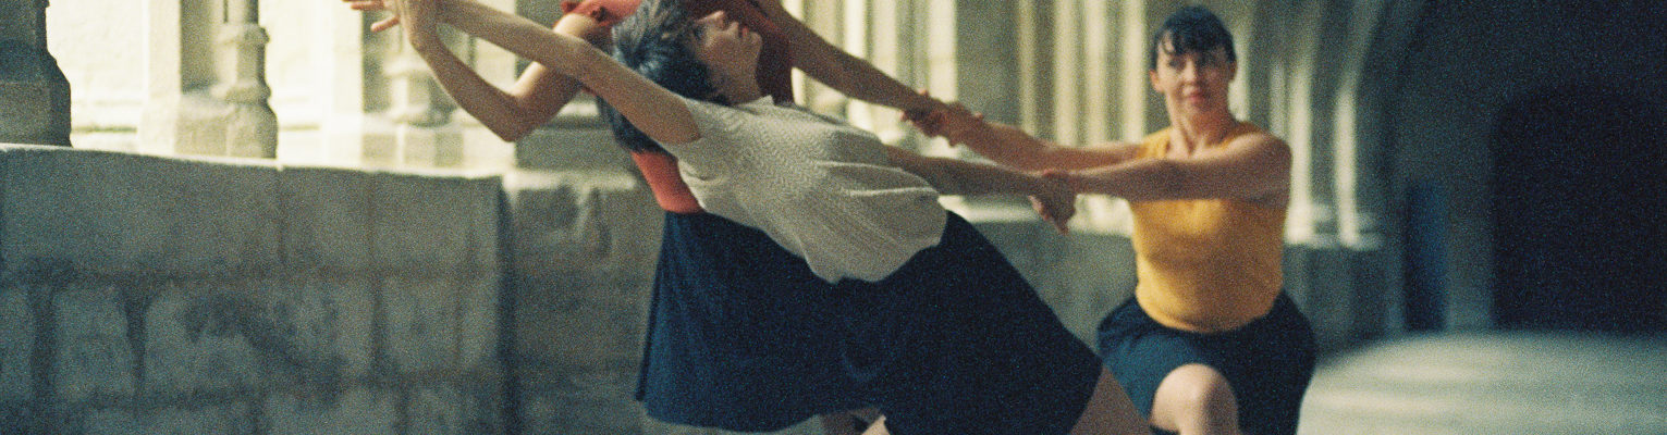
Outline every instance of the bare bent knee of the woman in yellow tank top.
{"type": "Polygon", "coordinates": [[[1239,435],[1239,402],[1215,368],[1182,365],[1159,382],[1152,425],[1180,435],[1239,435]]]}

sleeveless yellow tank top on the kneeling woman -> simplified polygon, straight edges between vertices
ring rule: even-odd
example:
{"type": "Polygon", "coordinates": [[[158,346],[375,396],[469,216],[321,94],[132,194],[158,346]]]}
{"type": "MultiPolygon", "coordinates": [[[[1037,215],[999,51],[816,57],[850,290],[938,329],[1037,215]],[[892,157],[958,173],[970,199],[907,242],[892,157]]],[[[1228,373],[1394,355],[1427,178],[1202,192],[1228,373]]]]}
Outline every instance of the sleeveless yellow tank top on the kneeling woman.
{"type": "MultiPolygon", "coordinates": [[[[1239,123],[1219,143],[1259,133],[1239,123]]],[[[1137,158],[1160,158],[1169,128],[1142,140],[1137,158]]],[[[1135,300],[1159,323],[1190,332],[1225,332],[1265,315],[1284,273],[1285,208],[1245,200],[1130,202],[1134,212],[1135,300]]]]}

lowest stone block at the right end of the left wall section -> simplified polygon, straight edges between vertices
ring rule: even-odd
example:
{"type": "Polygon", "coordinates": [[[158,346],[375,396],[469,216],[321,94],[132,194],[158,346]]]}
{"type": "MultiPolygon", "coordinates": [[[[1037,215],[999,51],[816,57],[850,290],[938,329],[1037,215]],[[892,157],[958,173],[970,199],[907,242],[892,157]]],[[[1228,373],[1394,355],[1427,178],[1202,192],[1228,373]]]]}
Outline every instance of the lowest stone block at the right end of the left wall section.
{"type": "Polygon", "coordinates": [[[425,387],[410,392],[405,408],[408,433],[503,433],[497,392],[475,393],[455,387],[425,387]]]}

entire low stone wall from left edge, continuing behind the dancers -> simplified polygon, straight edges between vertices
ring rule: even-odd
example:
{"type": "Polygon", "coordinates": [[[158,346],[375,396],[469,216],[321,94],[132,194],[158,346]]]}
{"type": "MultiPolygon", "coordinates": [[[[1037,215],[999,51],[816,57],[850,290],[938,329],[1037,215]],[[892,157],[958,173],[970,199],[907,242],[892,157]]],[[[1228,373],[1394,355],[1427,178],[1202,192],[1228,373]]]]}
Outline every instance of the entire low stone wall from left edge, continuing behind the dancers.
{"type": "MultiPolygon", "coordinates": [[[[950,203],[1084,340],[1134,288],[1120,233],[950,203]]],[[[727,433],[632,400],[660,222],[605,167],[0,145],[0,433],[727,433]]],[[[1287,248],[1322,345],[1382,332],[1372,262],[1287,248]]]]}

